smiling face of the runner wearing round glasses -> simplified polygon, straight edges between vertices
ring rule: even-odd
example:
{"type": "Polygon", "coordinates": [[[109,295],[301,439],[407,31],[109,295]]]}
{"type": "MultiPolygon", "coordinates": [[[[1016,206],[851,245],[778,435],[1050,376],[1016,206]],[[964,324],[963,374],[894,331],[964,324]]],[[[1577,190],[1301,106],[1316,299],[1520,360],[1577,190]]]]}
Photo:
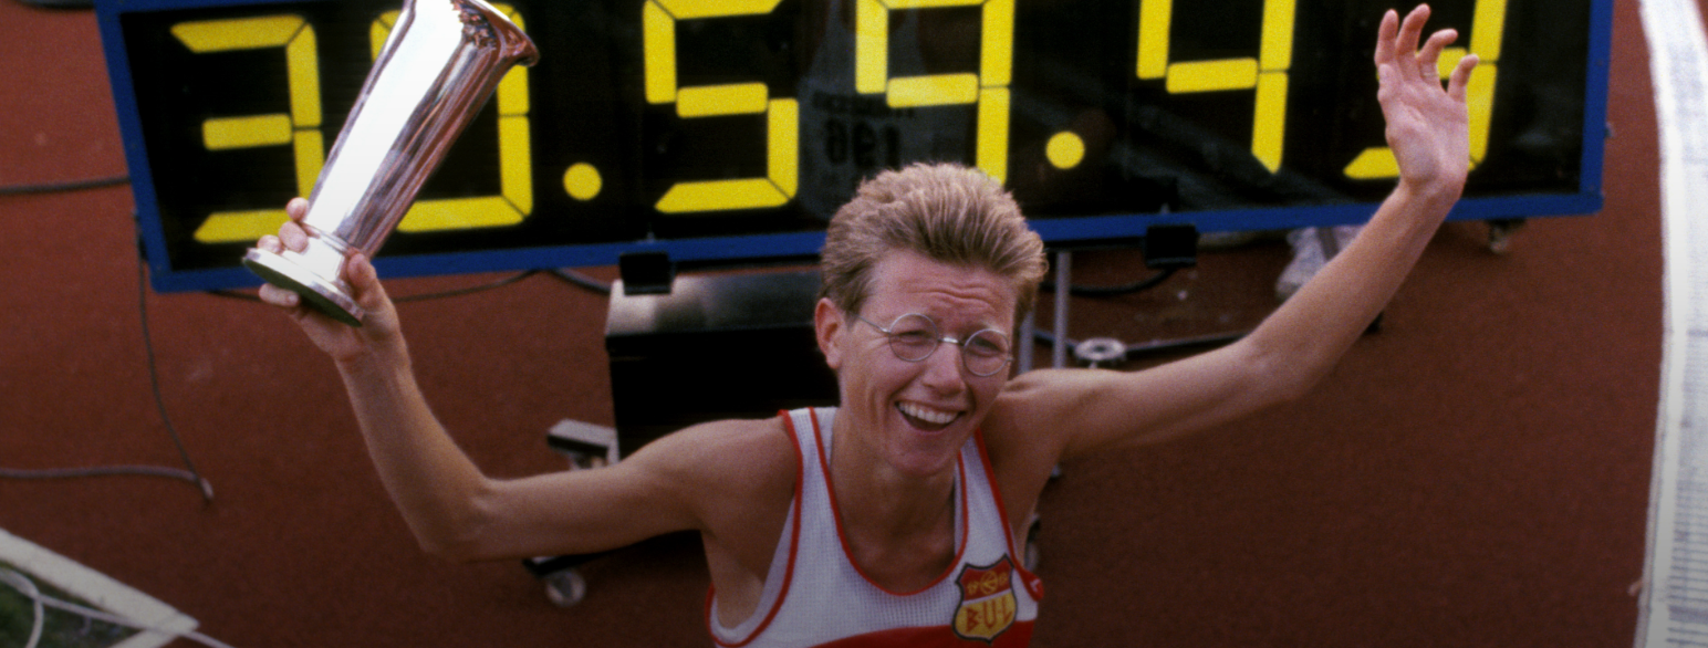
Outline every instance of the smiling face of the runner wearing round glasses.
{"type": "MultiPolygon", "coordinates": [[[[1015,300],[1013,283],[989,269],[892,251],[873,266],[871,292],[857,315],[890,326],[900,315],[922,314],[945,336],[965,339],[982,329],[1011,333],[1015,300]]],[[[842,389],[837,438],[849,437],[854,452],[904,474],[951,469],[1008,372],[974,375],[962,363],[962,348],[950,343],[921,362],[900,360],[883,331],[854,315],[828,300],[820,300],[815,315],[818,344],[842,389]]]]}

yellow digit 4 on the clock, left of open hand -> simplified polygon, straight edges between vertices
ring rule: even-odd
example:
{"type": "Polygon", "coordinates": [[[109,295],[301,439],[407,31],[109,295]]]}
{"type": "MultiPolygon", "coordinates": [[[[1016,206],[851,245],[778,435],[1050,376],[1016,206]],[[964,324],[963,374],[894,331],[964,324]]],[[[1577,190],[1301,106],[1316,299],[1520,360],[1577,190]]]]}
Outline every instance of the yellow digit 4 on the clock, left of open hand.
{"type": "Polygon", "coordinates": [[[1168,60],[1173,0],[1144,0],[1139,3],[1138,77],[1161,78],[1168,94],[1255,90],[1252,155],[1274,172],[1281,169],[1286,135],[1295,2],[1264,0],[1262,41],[1257,58],[1173,63],[1168,60]]]}

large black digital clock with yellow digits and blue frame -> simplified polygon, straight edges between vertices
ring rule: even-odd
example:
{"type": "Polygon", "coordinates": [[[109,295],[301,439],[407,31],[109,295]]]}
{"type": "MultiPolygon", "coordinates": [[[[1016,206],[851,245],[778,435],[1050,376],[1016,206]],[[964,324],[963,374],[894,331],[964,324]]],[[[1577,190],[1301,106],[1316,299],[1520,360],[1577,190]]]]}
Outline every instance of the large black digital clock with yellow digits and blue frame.
{"type": "MultiPolygon", "coordinates": [[[[398,12],[99,0],[157,290],[253,285],[398,12]]],[[[1387,2],[511,0],[533,38],[386,240],[386,276],[806,257],[857,181],[1003,179],[1056,246],[1358,222],[1395,181],[1387,2]]],[[[1454,218],[1600,208],[1612,0],[1445,0],[1476,53],[1454,218]]],[[[1409,7],[1399,7],[1409,9],[1409,7]]]]}

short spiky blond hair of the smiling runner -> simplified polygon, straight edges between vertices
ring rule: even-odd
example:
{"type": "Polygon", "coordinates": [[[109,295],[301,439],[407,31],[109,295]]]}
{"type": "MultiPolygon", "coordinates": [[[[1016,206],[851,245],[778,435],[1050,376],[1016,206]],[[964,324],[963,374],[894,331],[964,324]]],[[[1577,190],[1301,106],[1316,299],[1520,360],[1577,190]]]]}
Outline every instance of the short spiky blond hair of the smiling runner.
{"type": "Polygon", "coordinates": [[[1003,182],[960,164],[914,164],[861,182],[825,234],[820,297],[857,314],[871,290],[871,268],[890,251],[984,268],[1015,288],[1015,321],[1037,300],[1044,239],[1027,227],[1003,182]]]}

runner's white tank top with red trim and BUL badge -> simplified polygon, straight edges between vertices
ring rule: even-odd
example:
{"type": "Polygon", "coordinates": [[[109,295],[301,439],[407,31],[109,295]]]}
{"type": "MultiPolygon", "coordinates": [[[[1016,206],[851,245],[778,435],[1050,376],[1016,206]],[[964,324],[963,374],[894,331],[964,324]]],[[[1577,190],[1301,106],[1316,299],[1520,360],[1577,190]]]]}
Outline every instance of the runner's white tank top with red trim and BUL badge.
{"type": "Polygon", "coordinates": [[[753,616],[724,628],[716,588],[709,595],[712,639],[728,648],[1025,646],[1044,590],[1015,558],[984,437],[967,440],[956,460],[953,566],[919,592],[890,592],[854,564],[837,522],[834,418],[835,408],[786,414],[801,457],[794,501],[753,616]]]}

